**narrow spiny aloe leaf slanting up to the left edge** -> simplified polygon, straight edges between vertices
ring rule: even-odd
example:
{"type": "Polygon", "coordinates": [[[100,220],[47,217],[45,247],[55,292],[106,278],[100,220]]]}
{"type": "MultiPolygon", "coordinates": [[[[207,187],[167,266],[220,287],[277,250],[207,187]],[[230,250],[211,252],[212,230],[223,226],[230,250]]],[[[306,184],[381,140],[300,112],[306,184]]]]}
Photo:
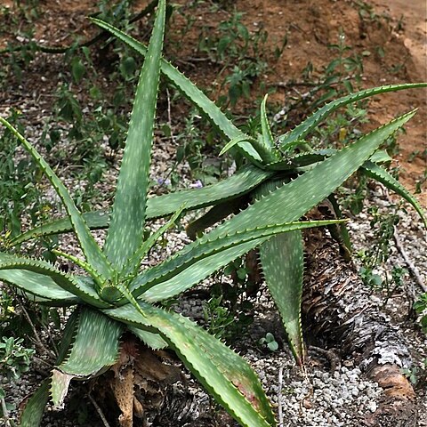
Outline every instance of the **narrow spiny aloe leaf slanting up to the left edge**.
{"type": "Polygon", "coordinates": [[[109,262],[102,253],[100,246],[95,242],[95,239],[93,238],[91,231],[88,229],[82,214],[78,211],[64,184],[30,142],[28,142],[11,124],[9,124],[9,122],[4,120],[4,118],[0,117],[0,123],[5,125],[16,136],[24,148],[27,149],[28,153],[34,158],[36,164],[42,169],[48,180],[51,182],[52,187],[58,193],[60,200],[67,210],[69,221],[72,224],[73,230],[76,232],[80,247],[85,254],[87,262],[92,264],[93,268],[98,270],[101,276],[109,278],[111,274],[109,262]]]}

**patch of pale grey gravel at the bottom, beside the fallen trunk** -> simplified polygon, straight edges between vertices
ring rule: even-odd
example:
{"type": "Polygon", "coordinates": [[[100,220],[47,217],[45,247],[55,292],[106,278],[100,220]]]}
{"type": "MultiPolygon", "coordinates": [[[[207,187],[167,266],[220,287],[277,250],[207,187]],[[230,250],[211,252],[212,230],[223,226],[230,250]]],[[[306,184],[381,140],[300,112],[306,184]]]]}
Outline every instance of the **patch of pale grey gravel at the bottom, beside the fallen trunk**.
{"type": "Polygon", "coordinates": [[[359,426],[360,419],[375,412],[376,399],[383,392],[358,367],[327,372],[309,366],[301,373],[287,352],[265,359],[248,352],[246,358],[260,375],[273,405],[281,402],[282,420],[288,426],[359,426]]]}

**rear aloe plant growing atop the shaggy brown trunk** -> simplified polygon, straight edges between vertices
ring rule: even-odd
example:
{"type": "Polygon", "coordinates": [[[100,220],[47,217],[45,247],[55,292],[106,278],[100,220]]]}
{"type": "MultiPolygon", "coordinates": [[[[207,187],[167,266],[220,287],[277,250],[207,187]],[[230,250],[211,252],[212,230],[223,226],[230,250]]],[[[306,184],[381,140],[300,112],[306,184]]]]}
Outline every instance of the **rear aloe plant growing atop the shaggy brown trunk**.
{"type": "MultiPolygon", "coordinates": [[[[147,48],[127,36],[117,28],[112,27],[106,22],[93,19],[93,21],[101,28],[109,30],[113,35],[129,44],[137,52],[146,55],[147,48]]],[[[198,230],[204,230],[206,227],[214,225],[215,222],[222,220],[225,216],[236,210],[241,204],[243,195],[254,196],[259,193],[259,189],[269,187],[269,181],[275,180],[279,174],[288,174],[289,176],[297,176],[305,172],[313,165],[323,162],[327,157],[331,157],[336,153],[334,149],[324,149],[313,151],[310,149],[310,141],[307,141],[307,136],[318,126],[322,120],[330,115],[334,110],[339,109],[350,102],[360,101],[367,97],[399,91],[404,89],[419,88],[425,84],[413,85],[386,85],[374,89],[368,89],[359,93],[352,93],[338,100],[326,104],[312,116],[307,118],[302,124],[297,125],[293,130],[274,138],[270,132],[270,126],[266,114],[266,98],[262,101],[261,106],[261,122],[262,134],[257,138],[249,137],[241,132],[228,117],[226,117],[221,109],[215,106],[213,101],[210,101],[204,93],[202,93],[196,85],[193,85],[187,77],[184,77],[178,69],[174,68],[169,62],[164,59],[160,60],[160,70],[176,87],[183,93],[189,101],[192,101],[197,107],[208,117],[213,125],[222,131],[224,136],[230,141],[224,146],[222,152],[228,149],[238,149],[253,165],[246,165],[244,169],[238,171],[227,180],[207,186],[204,189],[183,190],[173,194],[168,194],[160,197],[149,198],[146,209],[146,218],[156,218],[172,214],[180,205],[183,204],[183,210],[197,209],[207,205],[214,205],[207,214],[201,217],[196,222],[193,222],[188,227],[189,236],[195,237],[198,230]],[[294,147],[299,146],[302,152],[294,154],[294,147]],[[305,150],[305,152],[304,152],[305,150]],[[293,154],[290,154],[293,153],[293,154]],[[265,183],[265,185],[263,184],[265,183]]],[[[405,189],[398,181],[396,181],[390,173],[387,172],[380,164],[382,161],[389,160],[390,157],[375,152],[367,161],[361,165],[359,171],[366,173],[368,176],[377,181],[382,182],[386,187],[404,197],[407,202],[415,207],[415,210],[420,214],[424,225],[427,226],[427,220],[423,209],[418,204],[407,189],[405,189]]],[[[271,188],[270,188],[271,190],[271,188]]],[[[332,191],[331,191],[332,192],[332,191]]],[[[326,197],[332,197],[330,194],[326,197]]],[[[332,198],[331,201],[334,202],[332,198]]],[[[341,216],[336,203],[333,203],[334,209],[338,216],[341,216]]],[[[84,214],[84,219],[91,229],[109,227],[109,213],[93,212],[84,214]]],[[[342,239],[347,246],[350,246],[350,241],[346,236],[346,229],[341,224],[342,239]]],[[[68,219],[56,220],[39,226],[33,230],[28,230],[14,238],[10,244],[18,245],[29,238],[36,236],[56,234],[72,230],[71,222],[68,219]]],[[[224,252],[226,253],[226,251],[224,252]]],[[[264,278],[269,286],[270,293],[278,305],[278,311],[283,318],[283,323],[286,333],[289,338],[291,350],[294,352],[295,359],[299,364],[302,364],[304,351],[302,343],[302,331],[300,322],[300,305],[302,292],[302,241],[301,233],[294,231],[284,234],[277,238],[270,238],[268,242],[260,245],[260,258],[264,278]],[[300,236],[299,243],[296,243],[295,236],[300,236]],[[292,242],[292,243],[289,243],[292,242]],[[289,254],[286,254],[286,246],[300,247],[299,251],[294,251],[294,262],[290,262],[289,254]],[[296,245],[296,246],[295,246],[296,245]],[[280,265],[277,269],[273,266],[280,265]],[[271,266],[271,268],[270,268],[271,266]],[[287,295],[284,297],[284,295],[287,295]]],[[[218,256],[215,264],[216,268],[220,267],[221,260],[224,256],[218,256]]],[[[147,276],[147,278],[149,275],[147,276]]],[[[144,280],[148,280],[145,278],[144,280]]],[[[147,285],[149,286],[149,285],[147,285]]],[[[192,286],[192,285],[189,285],[192,286]]],[[[157,287],[155,288],[157,289],[157,287]]],[[[163,288],[160,295],[170,294],[169,291],[163,288]]],[[[140,292],[140,291],[138,291],[140,292]]],[[[161,298],[155,298],[151,290],[146,289],[145,298],[152,301],[160,301],[161,298]],[[153,300],[154,298],[154,300],[153,300]]]]}

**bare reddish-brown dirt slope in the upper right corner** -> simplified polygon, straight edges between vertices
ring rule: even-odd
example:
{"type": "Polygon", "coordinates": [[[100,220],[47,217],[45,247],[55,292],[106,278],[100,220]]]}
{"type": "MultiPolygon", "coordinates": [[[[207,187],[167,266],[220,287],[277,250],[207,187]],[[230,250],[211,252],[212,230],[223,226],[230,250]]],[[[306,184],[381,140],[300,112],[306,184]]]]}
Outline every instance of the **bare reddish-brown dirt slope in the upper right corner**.
{"type": "MultiPolygon", "coordinates": [[[[426,4],[423,0],[367,2],[375,5],[377,18],[370,24],[359,17],[361,8],[357,2],[349,1],[252,1],[238,2],[237,7],[245,8],[246,22],[261,23],[267,28],[270,38],[280,39],[288,35],[288,44],[283,55],[270,70],[271,83],[298,79],[310,60],[316,68],[326,66],[331,60],[329,44],[337,43],[340,30],[346,43],[354,52],[369,52],[364,56],[363,87],[395,84],[398,82],[420,82],[427,79],[426,63],[426,4]],[[247,7],[251,4],[252,7],[247,7]],[[403,18],[402,18],[403,17],[403,18]],[[402,27],[399,28],[399,20],[402,27]],[[384,55],[379,55],[382,47],[384,55]]],[[[359,2],[361,3],[361,2],[359,2]]],[[[286,104],[286,93],[278,91],[276,99],[286,104]]],[[[390,120],[405,110],[418,108],[415,120],[407,126],[407,134],[400,140],[399,163],[402,166],[401,179],[409,188],[415,188],[426,167],[425,153],[408,157],[414,151],[426,148],[426,91],[407,91],[378,97],[370,104],[372,125],[390,120]]],[[[423,197],[427,203],[425,187],[423,197]]]]}

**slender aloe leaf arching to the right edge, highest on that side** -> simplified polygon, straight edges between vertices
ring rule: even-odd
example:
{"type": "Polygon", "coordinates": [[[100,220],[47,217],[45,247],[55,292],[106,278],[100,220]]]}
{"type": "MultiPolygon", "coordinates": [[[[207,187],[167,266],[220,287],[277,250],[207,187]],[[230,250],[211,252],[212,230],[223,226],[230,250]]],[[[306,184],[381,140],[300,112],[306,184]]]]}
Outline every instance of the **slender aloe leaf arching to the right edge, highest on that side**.
{"type": "Polygon", "coordinates": [[[358,93],[351,93],[350,95],[343,96],[338,100],[329,102],[321,109],[318,109],[314,114],[305,119],[302,124],[294,127],[293,130],[285,133],[278,138],[280,145],[286,145],[292,141],[302,140],[306,135],[313,131],[319,123],[321,123],[327,116],[333,113],[336,109],[340,109],[351,102],[361,101],[370,96],[378,95],[387,92],[396,92],[406,89],[415,89],[419,87],[426,87],[427,83],[415,83],[406,85],[384,85],[367,89],[358,93]]]}

